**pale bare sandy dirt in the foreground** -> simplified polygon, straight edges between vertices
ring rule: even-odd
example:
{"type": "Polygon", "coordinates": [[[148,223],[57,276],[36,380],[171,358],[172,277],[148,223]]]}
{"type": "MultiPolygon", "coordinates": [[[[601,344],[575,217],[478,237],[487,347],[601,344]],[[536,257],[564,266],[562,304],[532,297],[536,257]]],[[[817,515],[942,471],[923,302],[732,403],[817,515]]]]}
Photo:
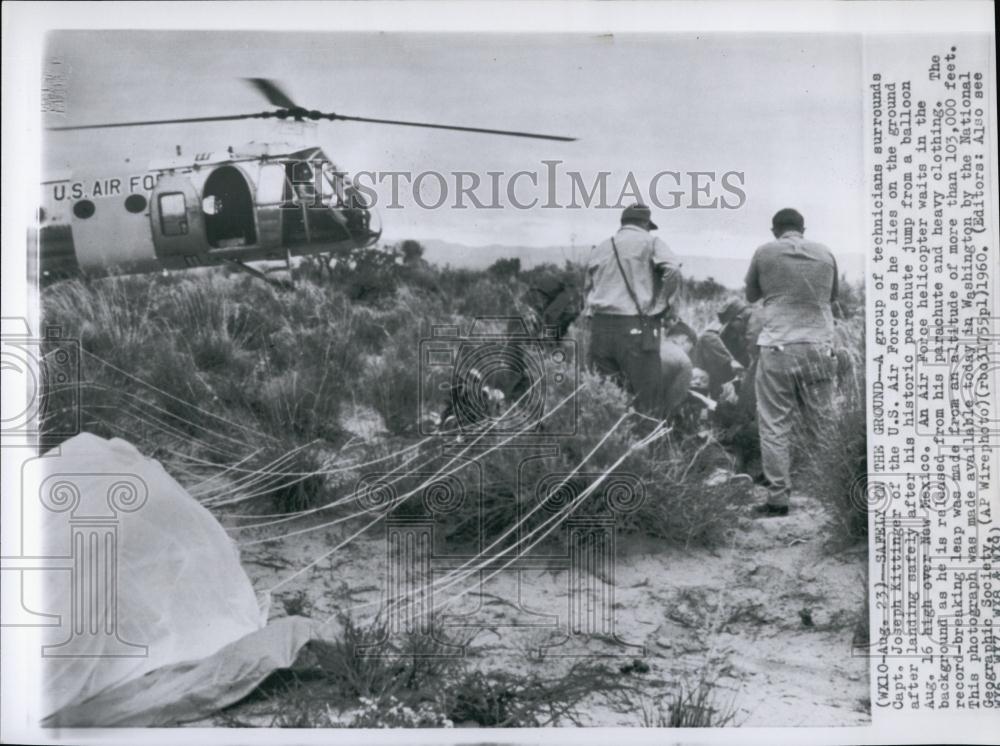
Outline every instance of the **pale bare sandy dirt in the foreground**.
{"type": "MultiPolygon", "coordinates": [[[[467,654],[482,668],[555,672],[573,656],[591,655],[644,688],[645,704],[663,703],[679,683],[705,676],[735,711],[731,724],[864,724],[867,660],[852,655],[852,638],[864,608],[866,554],[863,547],[831,553],[824,520],[816,500],[799,496],[787,517],[740,518],[728,544],[713,551],[619,537],[611,635],[567,641],[570,584],[566,573],[551,569],[488,579],[481,592],[449,604],[449,623],[469,625],[453,631],[473,638],[467,654]]],[[[270,589],[347,535],[324,530],[254,546],[243,553],[244,566],[255,587],[270,589]]],[[[277,589],[272,616],[348,612],[361,623],[374,619],[383,603],[385,556],[384,534],[372,529],[277,589]]],[[[479,586],[449,593],[459,588],[479,586]]],[[[636,702],[595,700],[585,724],[647,724],[636,702]]],[[[251,710],[235,708],[241,717],[251,710]]]]}

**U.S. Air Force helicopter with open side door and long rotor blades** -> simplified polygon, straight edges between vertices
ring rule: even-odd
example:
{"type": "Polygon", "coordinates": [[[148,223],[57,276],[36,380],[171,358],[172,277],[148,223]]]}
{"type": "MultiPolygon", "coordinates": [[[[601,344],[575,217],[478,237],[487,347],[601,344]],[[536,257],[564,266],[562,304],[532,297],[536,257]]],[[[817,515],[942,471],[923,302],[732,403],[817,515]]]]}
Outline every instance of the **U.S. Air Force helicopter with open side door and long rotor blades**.
{"type": "MultiPolygon", "coordinates": [[[[351,121],[572,142],[576,138],[306,109],[280,85],[245,79],[274,109],[245,114],[47,127],[51,132],[276,119],[351,121]]],[[[99,277],[248,264],[370,247],[382,235],[375,206],[319,147],[230,146],[153,161],[140,173],[57,174],[42,182],[39,279],[99,277]]]]}

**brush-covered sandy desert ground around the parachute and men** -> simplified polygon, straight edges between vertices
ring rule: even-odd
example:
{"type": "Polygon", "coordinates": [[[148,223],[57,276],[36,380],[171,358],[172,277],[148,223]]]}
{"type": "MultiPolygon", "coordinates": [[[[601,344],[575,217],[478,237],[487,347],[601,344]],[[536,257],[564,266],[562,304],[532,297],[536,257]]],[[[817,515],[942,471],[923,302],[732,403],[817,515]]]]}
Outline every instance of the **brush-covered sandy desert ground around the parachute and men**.
{"type": "MultiPolygon", "coordinates": [[[[753,520],[761,488],[710,423],[663,426],[666,436],[644,445],[650,423],[582,364],[583,319],[566,340],[579,365],[550,392],[578,405],[555,466],[620,469],[645,485],[641,506],[615,524],[614,561],[584,573],[592,592],[606,594],[613,634],[575,636],[572,656],[538,655],[567,625],[572,586],[557,563],[452,588],[463,593],[436,609],[434,635],[460,656],[433,646],[433,655],[426,646],[405,654],[419,639],[404,640],[402,656],[356,656],[383,631],[387,562],[384,522],[352,507],[358,480],[371,464],[406,476],[417,468],[408,463],[444,442],[424,430],[439,403],[421,394],[420,340],[434,324],[468,329],[477,317],[521,313],[540,276],[580,279],[569,263],[469,270],[393,247],[364,252],[300,265],[294,289],[201,271],[43,290],[46,323],[79,340],[82,429],[129,440],[212,512],[272,620],[316,623],[317,640],[293,666],[195,725],[869,720],[867,662],[852,653],[867,639],[866,520],[851,501],[865,473],[863,365],[839,381],[830,437],[799,459],[792,512],[753,520]]],[[[736,293],[689,278],[676,310],[701,332],[736,293]]],[[[847,286],[845,299],[838,339],[858,362],[863,296],[847,286]]],[[[70,405],[51,404],[50,431],[66,430],[70,405]]],[[[552,421],[553,430],[565,425],[552,421]]],[[[531,503],[512,458],[483,467],[478,519],[465,508],[449,519],[457,553],[468,556],[462,547],[483,531],[501,534],[531,503]]],[[[442,567],[435,581],[454,563],[442,567]]]]}

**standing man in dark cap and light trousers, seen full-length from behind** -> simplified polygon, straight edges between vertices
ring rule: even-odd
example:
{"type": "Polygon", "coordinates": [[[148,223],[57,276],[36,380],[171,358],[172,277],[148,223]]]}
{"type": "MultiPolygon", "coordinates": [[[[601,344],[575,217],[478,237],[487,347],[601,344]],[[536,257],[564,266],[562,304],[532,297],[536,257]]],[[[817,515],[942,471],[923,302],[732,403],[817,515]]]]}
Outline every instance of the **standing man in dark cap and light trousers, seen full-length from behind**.
{"type": "Polygon", "coordinates": [[[805,220],[785,208],[771,221],[774,241],[757,249],[746,276],[746,298],[763,300],[758,337],[757,418],[768,499],[755,512],[788,515],[791,436],[801,414],[813,443],[830,415],[836,375],[833,310],[837,261],[823,244],[802,237],[805,220]]]}

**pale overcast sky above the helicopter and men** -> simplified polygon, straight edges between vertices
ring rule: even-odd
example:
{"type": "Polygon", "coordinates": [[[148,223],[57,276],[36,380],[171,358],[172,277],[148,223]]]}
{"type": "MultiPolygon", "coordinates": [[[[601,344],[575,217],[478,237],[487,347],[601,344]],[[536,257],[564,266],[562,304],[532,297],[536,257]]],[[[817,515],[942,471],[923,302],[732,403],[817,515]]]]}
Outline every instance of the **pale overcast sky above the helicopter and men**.
{"type": "MultiPolygon", "coordinates": [[[[589,185],[609,172],[614,204],[629,173],[643,194],[658,172],[714,172],[707,196],[684,179],[681,205],[653,206],[659,235],[677,253],[747,258],[770,238],[771,215],[796,207],[807,234],[835,253],[863,252],[861,44],[856,35],[470,35],[264,32],[58,32],[47,69],[63,91],[49,125],[262,111],[242,78],[278,81],[307,108],[568,135],[572,143],[354,122],[183,124],[50,132],[43,170],[74,178],[131,175],[158,159],[248,141],[320,145],[348,173],[445,174],[449,198],[421,207],[405,185],[401,208],[376,191],[386,241],[441,239],[469,246],[589,245],[609,235],[619,210],[548,209],[571,201],[568,171],[589,185]],[[558,160],[551,182],[543,161],[558,160]],[[455,172],[502,172],[502,209],[455,209],[455,172]],[[514,209],[506,186],[519,171],[514,209]],[[723,188],[722,174],[744,193],[723,188]],[[696,209],[715,198],[736,209],[696,209]]],[[[361,177],[359,177],[361,178],[361,177]]],[[[367,177],[366,177],[367,178],[367,177]]],[[[468,178],[468,177],[466,177],[468,178]]],[[[673,177],[661,181],[676,188],[673,177]]],[[[468,183],[468,182],[466,182],[468,183]]],[[[425,178],[422,201],[437,198],[425,178]]],[[[631,201],[630,197],[626,198],[631,201]]],[[[648,201],[648,199],[647,199],[648,201]]],[[[469,202],[466,200],[466,204],[469,202]]]]}

